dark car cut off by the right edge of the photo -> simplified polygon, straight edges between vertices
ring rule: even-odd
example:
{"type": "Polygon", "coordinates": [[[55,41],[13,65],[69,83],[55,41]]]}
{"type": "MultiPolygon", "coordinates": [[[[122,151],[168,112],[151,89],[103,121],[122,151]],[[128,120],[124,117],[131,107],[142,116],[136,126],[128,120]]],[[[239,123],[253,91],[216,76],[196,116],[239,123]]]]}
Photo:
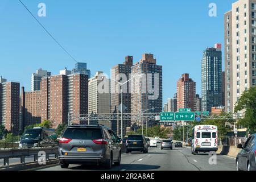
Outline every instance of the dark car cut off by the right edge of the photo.
{"type": "Polygon", "coordinates": [[[238,144],[242,150],[238,153],[236,164],[237,171],[256,171],[256,134],[251,135],[245,142],[245,145],[238,144]]]}

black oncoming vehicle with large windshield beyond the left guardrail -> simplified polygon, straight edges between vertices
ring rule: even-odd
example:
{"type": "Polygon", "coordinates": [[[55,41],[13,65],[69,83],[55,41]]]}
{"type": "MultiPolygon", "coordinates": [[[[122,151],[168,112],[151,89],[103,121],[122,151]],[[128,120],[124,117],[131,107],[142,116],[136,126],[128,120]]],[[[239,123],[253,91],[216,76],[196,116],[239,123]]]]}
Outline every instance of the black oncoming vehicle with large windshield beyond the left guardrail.
{"type": "Polygon", "coordinates": [[[54,129],[34,127],[27,129],[20,139],[20,148],[54,147],[57,146],[57,135],[54,129]]]}

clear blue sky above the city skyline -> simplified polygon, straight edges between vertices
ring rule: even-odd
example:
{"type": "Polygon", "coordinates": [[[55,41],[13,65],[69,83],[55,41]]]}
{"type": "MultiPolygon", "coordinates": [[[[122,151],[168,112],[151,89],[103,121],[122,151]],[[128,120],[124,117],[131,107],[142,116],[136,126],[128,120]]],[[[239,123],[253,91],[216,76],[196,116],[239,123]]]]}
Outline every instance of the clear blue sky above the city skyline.
{"type": "MultiPolygon", "coordinates": [[[[46,3],[40,22],[92,74],[110,75],[126,55],[141,59],[154,53],[163,65],[163,102],[176,92],[176,81],[189,73],[201,94],[203,50],[224,43],[224,13],[234,0],[23,0],[34,15],[46,3]],[[217,17],[208,15],[216,3],[217,17]]],[[[0,76],[30,90],[31,74],[43,68],[58,74],[73,61],[24,9],[18,0],[0,2],[0,76]]],[[[224,64],[224,60],[222,61],[224,64]]]]}

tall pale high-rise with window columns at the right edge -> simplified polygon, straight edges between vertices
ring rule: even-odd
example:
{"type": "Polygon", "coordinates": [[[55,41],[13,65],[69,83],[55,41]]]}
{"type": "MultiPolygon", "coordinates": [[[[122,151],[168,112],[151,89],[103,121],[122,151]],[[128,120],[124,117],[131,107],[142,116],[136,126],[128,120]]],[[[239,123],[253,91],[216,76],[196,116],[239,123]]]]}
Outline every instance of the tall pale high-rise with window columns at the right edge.
{"type": "Polygon", "coordinates": [[[224,27],[225,109],[233,113],[241,94],[256,85],[256,1],[234,2],[224,27]]]}

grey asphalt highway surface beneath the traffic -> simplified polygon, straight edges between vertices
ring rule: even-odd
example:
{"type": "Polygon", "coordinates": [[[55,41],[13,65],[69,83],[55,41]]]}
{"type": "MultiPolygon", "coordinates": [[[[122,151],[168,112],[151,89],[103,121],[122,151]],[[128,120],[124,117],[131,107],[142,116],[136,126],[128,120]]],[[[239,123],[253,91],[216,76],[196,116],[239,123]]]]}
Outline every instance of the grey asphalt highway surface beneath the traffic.
{"type": "MultiPolygon", "coordinates": [[[[149,148],[148,154],[133,152],[122,154],[121,166],[114,166],[112,171],[233,171],[236,170],[236,160],[228,156],[217,155],[217,164],[209,164],[208,154],[191,154],[191,148],[175,148],[174,150],[161,150],[149,148]]],[[[68,169],[60,166],[41,168],[40,171],[81,171],[105,170],[101,166],[69,165],[68,169]]]]}

